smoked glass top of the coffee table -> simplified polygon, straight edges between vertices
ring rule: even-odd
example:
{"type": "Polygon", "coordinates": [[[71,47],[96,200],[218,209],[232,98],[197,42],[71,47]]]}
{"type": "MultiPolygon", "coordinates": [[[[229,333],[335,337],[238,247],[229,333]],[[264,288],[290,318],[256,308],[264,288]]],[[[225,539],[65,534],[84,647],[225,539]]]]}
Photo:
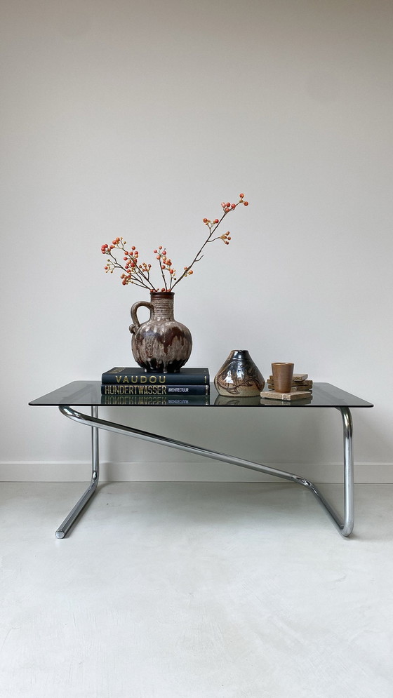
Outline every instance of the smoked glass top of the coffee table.
{"type": "Polygon", "coordinates": [[[224,397],[218,395],[213,384],[206,396],[168,395],[101,395],[101,382],[98,380],[76,380],[37,398],[29,405],[70,405],[91,407],[373,407],[366,400],[347,393],[331,383],[314,383],[311,398],[295,401],[277,401],[266,398],[224,397]]]}

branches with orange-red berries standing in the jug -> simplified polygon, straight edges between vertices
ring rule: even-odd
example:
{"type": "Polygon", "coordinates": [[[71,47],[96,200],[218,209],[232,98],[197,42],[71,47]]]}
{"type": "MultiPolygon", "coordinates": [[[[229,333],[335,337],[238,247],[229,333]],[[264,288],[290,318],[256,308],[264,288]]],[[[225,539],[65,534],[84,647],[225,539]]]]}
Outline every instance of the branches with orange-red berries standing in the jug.
{"type": "Polygon", "coordinates": [[[106,272],[109,271],[110,274],[113,274],[114,269],[121,269],[123,273],[121,274],[120,278],[123,286],[126,286],[128,283],[134,283],[135,286],[147,288],[151,292],[161,291],[164,293],[171,293],[173,288],[175,288],[176,284],[179,283],[182,278],[194,274],[194,269],[192,269],[192,267],[194,267],[194,264],[196,264],[196,262],[200,262],[202,257],[204,257],[202,251],[208,243],[214,242],[215,240],[222,240],[225,245],[229,245],[229,240],[231,239],[229,231],[223,233],[222,235],[215,235],[215,232],[224,218],[229,213],[232,213],[232,211],[234,211],[239,204],[248,206],[248,201],[244,201],[244,194],[239,194],[239,201],[237,203],[222,201],[222,215],[220,218],[214,218],[213,220],[210,220],[209,218],[203,219],[204,224],[208,227],[208,236],[204,241],[204,244],[196,253],[191,264],[189,264],[188,267],[183,268],[180,276],[176,276],[176,269],[173,268],[172,260],[170,257],[168,257],[168,253],[164,246],[160,245],[156,250],[153,250],[159,264],[159,270],[161,272],[161,279],[163,283],[161,288],[156,288],[156,286],[154,286],[150,280],[152,264],[146,264],[146,262],[141,263],[139,260],[138,250],[135,248],[135,246],[132,246],[131,249],[128,250],[126,248],[126,240],[121,237],[112,240],[112,245],[105,243],[101,246],[102,254],[109,255],[107,257],[107,264],[105,265],[104,269],[106,272]],[[119,262],[116,259],[112,250],[119,250],[121,255],[123,255],[122,262],[119,262]]]}

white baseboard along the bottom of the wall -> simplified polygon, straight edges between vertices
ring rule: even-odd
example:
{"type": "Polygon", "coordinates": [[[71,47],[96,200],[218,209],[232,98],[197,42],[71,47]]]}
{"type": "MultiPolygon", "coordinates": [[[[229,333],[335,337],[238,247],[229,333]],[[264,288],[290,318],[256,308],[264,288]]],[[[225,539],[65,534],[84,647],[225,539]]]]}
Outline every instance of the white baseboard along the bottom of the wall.
{"type": "MultiPolygon", "coordinates": [[[[315,483],[342,482],[342,464],[267,464],[315,483]]],[[[3,482],[88,482],[90,462],[0,463],[3,482]]],[[[277,482],[273,476],[214,461],[100,464],[101,482],[277,482]]],[[[279,482],[284,482],[280,480],[279,482]]],[[[355,465],[356,483],[393,483],[393,463],[355,465]]]]}

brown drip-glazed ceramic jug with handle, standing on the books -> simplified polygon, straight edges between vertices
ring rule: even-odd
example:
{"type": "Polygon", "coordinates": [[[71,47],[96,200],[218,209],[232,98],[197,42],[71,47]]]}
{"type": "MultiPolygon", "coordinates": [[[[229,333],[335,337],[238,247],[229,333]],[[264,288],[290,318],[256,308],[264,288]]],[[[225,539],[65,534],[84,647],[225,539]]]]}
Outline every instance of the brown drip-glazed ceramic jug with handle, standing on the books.
{"type": "Polygon", "coordinates": [[[189,329],[173,317],[174,293],[152,291],[150,302],[140,300],[131,308],[131,349],[136,363],[149,373],[179,373],[192,349],[189,329]],[[146,322],[138,320],[138,308],[150,311],[146,322]]]}

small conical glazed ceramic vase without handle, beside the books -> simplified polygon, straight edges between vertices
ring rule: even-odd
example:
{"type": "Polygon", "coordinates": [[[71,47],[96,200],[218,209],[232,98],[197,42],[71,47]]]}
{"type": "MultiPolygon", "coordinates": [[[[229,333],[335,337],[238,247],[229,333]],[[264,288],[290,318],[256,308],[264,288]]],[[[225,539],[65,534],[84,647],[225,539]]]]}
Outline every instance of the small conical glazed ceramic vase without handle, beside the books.
{"type": "Polygon", "coordinates": [[[215,376],[214,384],[220,395],[249,398],[260,395],[265,379],[246,349],[234,349],[215,376]]]}

